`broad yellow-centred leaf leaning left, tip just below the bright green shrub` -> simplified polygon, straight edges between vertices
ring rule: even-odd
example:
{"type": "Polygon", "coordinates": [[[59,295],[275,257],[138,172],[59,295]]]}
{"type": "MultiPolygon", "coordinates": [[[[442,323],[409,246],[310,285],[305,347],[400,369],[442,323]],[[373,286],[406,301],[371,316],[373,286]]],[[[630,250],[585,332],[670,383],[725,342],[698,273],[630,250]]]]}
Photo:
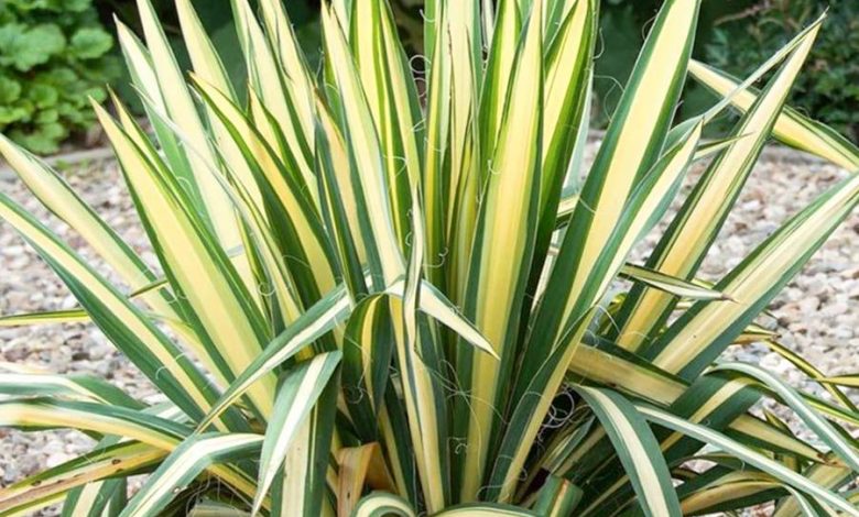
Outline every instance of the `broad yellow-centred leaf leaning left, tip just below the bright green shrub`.
{"type": "MultiPolygon", "coordinates": [[[[255,301],[214,235],[200,223],[176,178],[166,174],[153,150],[135,145],[100,107],[102,127],[113,145],[152,245],[174,290],[182,294],[211,340],[208,356],[227,381],[244,370],[268,339],[255,301]]],[[[220,185],[219,185],[220,188],[220,185]]],[[[271,413],[273,376],[263,377],[250,398],[264,417],[271,413]]]]}

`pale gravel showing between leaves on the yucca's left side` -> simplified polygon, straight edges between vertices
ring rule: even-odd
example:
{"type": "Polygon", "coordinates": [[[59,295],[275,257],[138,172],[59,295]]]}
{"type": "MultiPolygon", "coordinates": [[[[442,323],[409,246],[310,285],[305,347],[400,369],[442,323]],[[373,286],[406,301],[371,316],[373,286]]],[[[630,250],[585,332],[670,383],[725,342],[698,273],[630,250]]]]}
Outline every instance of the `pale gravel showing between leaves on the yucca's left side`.
{"type": "MultiPolygon", "coordinates": [[[[134,215],[130,198],[110,164],[79,167],[66,174],[69,184],[146,260],[155,263],[134,215]]],[[[41,221],[117,279],[95,258],[83,240],[53,218],[18,182],[0,180],[0,191],[11,196],[41,221]]],[[[0,314],[68,309],[77,306],[59,278],[24,243],[11,227],[0,223],[0,314]]],[[[135,397],[156,392],[93,324],[50,324],[0,328],[0,361],[53,373],[83,373],[105,377],[135,397]]],[[[95,441],[77,431],[19,432],[0,429],[0,486],[88,451],[95,441]]]]}

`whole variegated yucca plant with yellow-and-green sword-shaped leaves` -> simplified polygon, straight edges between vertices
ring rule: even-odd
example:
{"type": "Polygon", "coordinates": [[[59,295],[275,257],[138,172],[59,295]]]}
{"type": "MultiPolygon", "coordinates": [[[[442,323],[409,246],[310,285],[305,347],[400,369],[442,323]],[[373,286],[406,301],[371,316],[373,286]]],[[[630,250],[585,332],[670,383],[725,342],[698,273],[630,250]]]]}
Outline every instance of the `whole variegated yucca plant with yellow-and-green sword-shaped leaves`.
{"type": "Polygon", "coordinates": [[[320,70],[281,2],[259,3],[258,19],[232,2],[247,100],[189,0],[187,78],[149,0],[145,45],[119,26],[153,134],[116,99],[116,118],[95,109],[159,271],[0,140],[124,283],[0,196],[80,302],[3,324],[91,319],[163,394],[4,364],[0,425],[100,441],[0,491],[0,515],[859,515],[856,377],[826,377],[755,320],[853,209],[859,176],[715,285],[696,278],[771,135],[859,169],[859,150],[783,108],[820,21],[739,81],[691,62],[699,2],[667,0],[584,174],[596,0],[430,1],[424,78],[387,2],[323,6],[320,70]],[[677,122],[687,72],[718,102],[677,122]],[[703,140],[730,106],[732,134],[703,140]],[[646,263],[627,263],[665,218],[646,263]],[[830,396],[719,361],[751,341],[830,396]],[[819,440],[761,416],[763,397],[819,440]]]}

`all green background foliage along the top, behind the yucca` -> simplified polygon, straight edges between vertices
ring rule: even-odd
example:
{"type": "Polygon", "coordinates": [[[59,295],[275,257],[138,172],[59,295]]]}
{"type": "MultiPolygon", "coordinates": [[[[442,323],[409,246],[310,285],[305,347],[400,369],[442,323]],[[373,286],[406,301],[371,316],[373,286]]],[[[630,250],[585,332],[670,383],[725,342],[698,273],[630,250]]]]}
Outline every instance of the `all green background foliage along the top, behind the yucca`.
{"type": "MultiPolygon", "coordinates": [[[[168,35],[178,36],[173,0],[155,0],[168,35]]],[[[244,63],[231,22],[229,0],[196,0],[237,85],[244,63]]],[[[318,56],[318,0],[286,2],[311,57],[318,56]]],[[[662,0],[604,0],[601,52],[595,79],[594,122],[607,123],[634,64],[649,23],[662,0]]],[[[393,3],[404,42],[421,52],[421,0],[393,3]]],[[[704,2],[695,56],[738,76],[754,69],[800,28],[827,9],[825,0],[725,0],[704,2]]],[[[87,97],[105,98],[111,82],[128,102],[138,103],[130,78],[118,66],[118,51],[104,29],[117,15],[138,29],[133,0],[0,1],[0,131],[36,153],[52,153],[75,131],[88,129],[87,97]]],[[[182,45],[175,45],[180,61],[182,45]]],[[[417,63],[420,65],[420,63],[417,63]]],[[[691,85],[683,113],[711,102],[691,85]]],[[[859,2],[836,1],[791,100],[802,111],[853,141],[859,140],[859,2]]],[[[725,120],[725,128],[731,122],[725,120]]]]}

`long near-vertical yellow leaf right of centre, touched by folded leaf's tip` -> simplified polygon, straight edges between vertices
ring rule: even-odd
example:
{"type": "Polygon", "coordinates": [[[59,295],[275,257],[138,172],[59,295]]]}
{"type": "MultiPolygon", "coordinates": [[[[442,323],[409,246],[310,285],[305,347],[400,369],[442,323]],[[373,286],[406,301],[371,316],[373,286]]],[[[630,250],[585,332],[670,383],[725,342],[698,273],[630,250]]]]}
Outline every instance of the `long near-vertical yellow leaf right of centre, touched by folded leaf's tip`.
{"type": "MultiPolygon", "coordinates": [[[[501,2],[511,4],[511,1],[501,2]]],[[[512,9],[509,6],[507,9],[512,9]]],[[[461,497],[472,501],[488,469],[487,453],[499,433],[497,408],[514,364],[523,293],[531,271],[540,207],[540,157],[543,111],[543,1],[534,3],[520,48],[511,51],[510,90],[500,97],[489,118],[499,134],[487,148],[486,186],[468,267],[464,311],[492,343],[501,361],[460,349],[458,375],[470,399],[458,400],[454,426],[470,444],[455,466],[461,477],[461,497]],[[497,254],[504,251],[503,260],[497,254]],[[499,286],[504,286],[499,289],[499,286]]],[[[512,35],[512,34],[511,34],[512,35]]],[[[496,33],[500,38],[501,34],[496,33]]],[[[493,52],[500,52],[498,48],[493,52]]],[[[507,56],[498,56],[507,59],[507,56]]],[[[503,73],[487,79],[504,81],[503,73]]],[[[486,95],[486,94],[485,94],[486,95]]],[[[487,128],[487,131],[491,131],[487,128]]],[[[488,136],[492,142],[496,136],[488,136]]],[[[482,172],[481,172],[482,174],[482,172]]]]}

